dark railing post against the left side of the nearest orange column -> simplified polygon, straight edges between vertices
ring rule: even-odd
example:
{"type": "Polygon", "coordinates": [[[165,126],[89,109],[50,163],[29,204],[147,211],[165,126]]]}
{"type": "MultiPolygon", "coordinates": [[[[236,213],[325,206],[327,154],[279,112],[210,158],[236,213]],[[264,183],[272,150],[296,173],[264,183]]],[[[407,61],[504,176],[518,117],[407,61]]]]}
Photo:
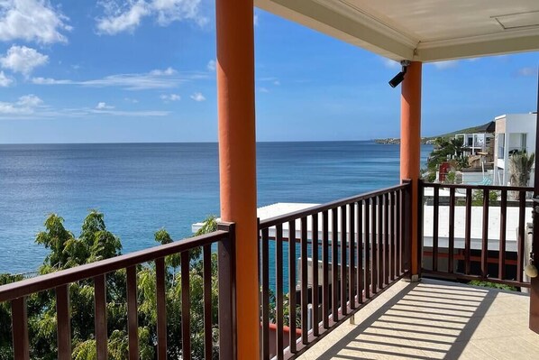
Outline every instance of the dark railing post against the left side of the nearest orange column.
{"type": "Polygon", "coordinates": [[[219,272],[219,358],[236,358],[236,263],[235,225],[220,223],[219,230],[227,231],[228,237],[218,245],[219,272]]]}

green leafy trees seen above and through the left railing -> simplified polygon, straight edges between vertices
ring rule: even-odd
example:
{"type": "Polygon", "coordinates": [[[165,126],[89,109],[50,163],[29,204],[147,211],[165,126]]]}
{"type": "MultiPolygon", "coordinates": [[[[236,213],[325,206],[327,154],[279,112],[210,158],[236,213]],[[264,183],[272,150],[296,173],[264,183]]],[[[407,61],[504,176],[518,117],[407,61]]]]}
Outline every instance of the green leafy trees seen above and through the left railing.
{"type": "MultiPolygon", "coordinates": [[[[50,215],[45,221],[45,230],[36,236],[36,243],[49,250],[39,269],[40,274],[69,269],[85,263],[108,259],[121,254],[120,239],[109,232],[103,214],[90,211],[76,238],[64,227],[64,220],[50,215]]],[[[215,217],[206,219],[202,235],[216,229],[215,217]]],[[[172,239],[165,229],[155,233],[155,241],[161,245],[172,239]]],[[[192,357],[204,358],[204,277],[201,250],[189,253],[191,341],[192,357]]],[[[217,343],[217,258],[212,255],[212,329],[217,343]]],[[[170,255],[166,263],[167,344],[169,358],[181,356],[181,276],[179,254],[170,255]]],[[[106,275],[106,319],[108,329],[109,359],[120,360],[128,355],[127,302],[125,270],[106,275]]],[[[0,274],[0,285],[23,280],[21,275],[0,274]]],[[[154,263],[137,267],[137,295],[139,310],[139,356],[154,359],[157,346],[157,303],[156,270],[154,263]]],[[[71,305],[72,357],[74,359],[96,359],[96,337],[94,333],[94,283],[92,280],[72,283],[69,286],[71,305]]],[[[57,358],[56,302],[53,291],[32,294],[27,299],[28,328],[32,359],[52,360],[57,358]]],[[[9,303],[0,303],[0,359],[13,358],[11,348],[11,310],[9,303]]],[[[218,347],[215,346],[215,356],[218,347]]]]}

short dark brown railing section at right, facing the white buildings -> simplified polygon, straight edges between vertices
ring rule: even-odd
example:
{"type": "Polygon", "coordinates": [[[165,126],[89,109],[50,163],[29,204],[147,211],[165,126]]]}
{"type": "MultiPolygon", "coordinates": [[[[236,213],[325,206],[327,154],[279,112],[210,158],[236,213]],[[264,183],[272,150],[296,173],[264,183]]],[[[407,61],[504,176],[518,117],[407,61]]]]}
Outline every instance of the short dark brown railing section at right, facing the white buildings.
{"type": "Polygon", "coordinates": [[[432,226],[422,229],[422,272],[529,287],[523,266],[529,256],[525,254],[526,212],[531,221],[532,211],[526,195],[533,190],[420,182],[422,224],[432,226]],[[427,189],[432,189],[429,196],[425,196],[427,189]]]}

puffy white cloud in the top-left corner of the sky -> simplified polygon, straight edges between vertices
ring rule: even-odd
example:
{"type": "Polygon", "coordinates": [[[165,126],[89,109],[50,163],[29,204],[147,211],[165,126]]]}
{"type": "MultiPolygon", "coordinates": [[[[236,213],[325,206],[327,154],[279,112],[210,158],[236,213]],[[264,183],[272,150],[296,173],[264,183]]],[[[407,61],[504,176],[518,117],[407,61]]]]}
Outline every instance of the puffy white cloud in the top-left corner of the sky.
{"type": "Polygon", "coordinates": [[[0,0],[0,41],[24,40],[50,44],[68,42],[69,18],[49,0],[0,0]]]}

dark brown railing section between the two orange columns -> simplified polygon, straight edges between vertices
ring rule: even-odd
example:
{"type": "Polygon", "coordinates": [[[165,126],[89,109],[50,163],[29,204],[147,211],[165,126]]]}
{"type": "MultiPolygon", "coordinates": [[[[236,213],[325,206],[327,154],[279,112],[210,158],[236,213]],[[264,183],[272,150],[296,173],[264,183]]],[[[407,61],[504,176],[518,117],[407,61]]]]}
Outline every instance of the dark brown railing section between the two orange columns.
{"type": "Polygon", "coordinates": [[[297,357],[403,276],[410,189],[404,183],[260,222],[262,359],[297,357]]]}

